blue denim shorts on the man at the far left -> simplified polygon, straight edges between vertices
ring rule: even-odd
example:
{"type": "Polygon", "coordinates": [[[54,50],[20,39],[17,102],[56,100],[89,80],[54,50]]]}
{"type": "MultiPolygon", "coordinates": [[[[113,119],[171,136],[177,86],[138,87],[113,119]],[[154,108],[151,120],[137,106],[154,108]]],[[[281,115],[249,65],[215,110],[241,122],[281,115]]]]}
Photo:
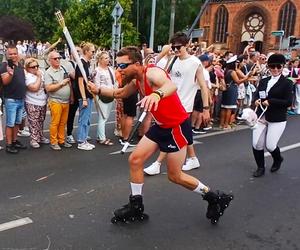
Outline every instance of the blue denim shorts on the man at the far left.
{"type": "Polygon", "coordinates": [[[22,123],[24,110],[23,99],[5,99],[5,115],[6,115],[6,126],[13,128],[16,124],[22,123]]]}

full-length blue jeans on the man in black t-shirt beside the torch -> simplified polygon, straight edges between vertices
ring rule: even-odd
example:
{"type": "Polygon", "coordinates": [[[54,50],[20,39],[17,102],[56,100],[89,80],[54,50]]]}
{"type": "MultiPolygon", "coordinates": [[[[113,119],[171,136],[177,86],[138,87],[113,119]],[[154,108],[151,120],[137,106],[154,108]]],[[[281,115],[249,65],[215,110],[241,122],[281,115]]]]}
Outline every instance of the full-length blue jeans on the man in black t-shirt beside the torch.
{"type": "Polygon", "coordinates": [[[77,130],[77,141],[78,143],[85,142],[89,130],[90,120],[92,114],[93,99],[87,98],[87,107],[82,106],[82,99],[79,99],[79,117],[78,117],[78,130],[77,130]]]}

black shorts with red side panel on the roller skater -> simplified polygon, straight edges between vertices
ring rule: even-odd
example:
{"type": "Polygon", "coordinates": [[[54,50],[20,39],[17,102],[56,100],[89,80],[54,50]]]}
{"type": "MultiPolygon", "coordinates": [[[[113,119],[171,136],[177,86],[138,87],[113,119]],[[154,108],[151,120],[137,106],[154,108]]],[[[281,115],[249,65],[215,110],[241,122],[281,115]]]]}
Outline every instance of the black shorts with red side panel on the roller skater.
{"type": "Polygon", "coordinates": [[[186,119],[175,128],[162,128],[154,124],[145,135],[158,144],[160,151],[177,152],[186,145],[193,144],[191,123],[186,119]]]}

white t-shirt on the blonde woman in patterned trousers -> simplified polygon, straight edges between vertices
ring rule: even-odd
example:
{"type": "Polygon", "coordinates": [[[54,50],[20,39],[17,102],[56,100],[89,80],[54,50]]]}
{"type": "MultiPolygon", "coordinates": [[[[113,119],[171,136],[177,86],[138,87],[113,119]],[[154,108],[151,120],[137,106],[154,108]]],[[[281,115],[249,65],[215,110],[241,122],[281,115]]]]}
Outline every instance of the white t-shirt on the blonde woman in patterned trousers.
{"type": "MultiPolygon", "coordinates": [[[[37,79],[37,76],[31,73],[26,72],[25,74],[25,83],[26,86],[35,83],[37,79]]],[[[40,89],[37,92],[32,92],[27,89],[26,96],[25,96],[25,102],[37,105],[37,106],[45,106],[47,104],[47,94],[45,93],[44,89],[44,76],[42,75],[41,79],[42,83],[40,86],[40,89]]]]}

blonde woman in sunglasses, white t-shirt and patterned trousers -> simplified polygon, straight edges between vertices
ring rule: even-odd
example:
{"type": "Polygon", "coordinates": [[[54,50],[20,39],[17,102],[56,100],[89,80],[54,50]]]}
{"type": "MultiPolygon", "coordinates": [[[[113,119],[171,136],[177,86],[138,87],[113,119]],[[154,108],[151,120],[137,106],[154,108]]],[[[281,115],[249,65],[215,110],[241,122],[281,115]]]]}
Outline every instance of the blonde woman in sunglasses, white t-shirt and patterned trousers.
{"type": "Polygon", "coordinates": [[[43,126],[47,110],[47,94],[44,88],[44,77],[39,69],[38,61],[34,58],[25,60],[25,109],[30,130],[30,145],[39,148],[40,143],[49,144],[44,137],[43,126]]]}

